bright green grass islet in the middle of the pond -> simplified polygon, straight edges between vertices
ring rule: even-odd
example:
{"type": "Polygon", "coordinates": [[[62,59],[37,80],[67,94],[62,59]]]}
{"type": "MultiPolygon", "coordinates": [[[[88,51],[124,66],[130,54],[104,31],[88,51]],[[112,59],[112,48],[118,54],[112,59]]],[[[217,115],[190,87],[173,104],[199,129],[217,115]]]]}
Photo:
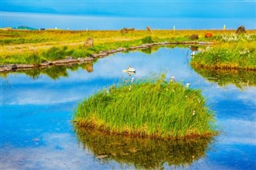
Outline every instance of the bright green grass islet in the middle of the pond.
{"type": "Polygon", "coordinates": [[[130,136],[189,138],[216,134],[214,115],[199,90],[178,82],[126,82],[78,104],[78,126],[130,136]]]}

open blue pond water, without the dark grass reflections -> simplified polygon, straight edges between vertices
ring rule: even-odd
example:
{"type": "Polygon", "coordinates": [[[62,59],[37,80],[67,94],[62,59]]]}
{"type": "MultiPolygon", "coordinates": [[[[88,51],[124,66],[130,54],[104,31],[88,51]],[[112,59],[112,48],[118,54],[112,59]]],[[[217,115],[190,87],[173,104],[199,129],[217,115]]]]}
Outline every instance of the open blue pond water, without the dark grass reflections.
{"type": "MultiPolygon", "coordinates": [[[[256,88],[238,89],[206,81],[190,68],[190,49],[161,48],[151,54],[138,51],[116,53],[94,63],[94,71],[68,71],[69,77],[52,80],[45,74],[33,79],[22,73],[1,78],[1,166],[2,169],[119,169],[134,168],[115,160],[99,162],[84,150],[70,123],[72,113],[84,97],[123,78],[166,73],[190,88],[202,89],[222,130],[206,156],[188,169],[256,168],[256,88]],[[136,74],[122,73],[132,65],[136,74]]],[[[163,164],[164,168],[175,168],[163,164]]],[[[176,167],[177,168],[177,167],[176,167]]],[[[178,167],[182,168],[182,167],[178,167]]]]}

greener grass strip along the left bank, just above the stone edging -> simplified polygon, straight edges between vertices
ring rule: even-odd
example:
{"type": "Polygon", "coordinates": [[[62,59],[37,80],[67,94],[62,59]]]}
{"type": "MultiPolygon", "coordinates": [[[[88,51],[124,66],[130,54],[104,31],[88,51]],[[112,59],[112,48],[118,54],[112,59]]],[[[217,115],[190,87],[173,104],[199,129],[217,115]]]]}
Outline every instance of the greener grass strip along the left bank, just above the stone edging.
{"type": "MultiPolygon", "coordinates": [[[[159,40],[159,39],[158,39],[159,40]]],[[[161,41],[161,40],[159,40],[161,41]]],[[[153,42],[153,38],[146,37],[133,41],[126,42],[105,42],[102,44],[94,45],[92,48],[86,48],[83,45],[76,47],[53,46],[50,49],[42,50],[34,53],[19,53],[0,57],[1,64],[34,64],[39,65],[42,61],[56,61],[64,59],[66,56],[90,57],[92,53],[100,53],[104,50],[118,49],[119,47],[129,48],[135,45],[142,45],[144,43],[153,42]]]]}

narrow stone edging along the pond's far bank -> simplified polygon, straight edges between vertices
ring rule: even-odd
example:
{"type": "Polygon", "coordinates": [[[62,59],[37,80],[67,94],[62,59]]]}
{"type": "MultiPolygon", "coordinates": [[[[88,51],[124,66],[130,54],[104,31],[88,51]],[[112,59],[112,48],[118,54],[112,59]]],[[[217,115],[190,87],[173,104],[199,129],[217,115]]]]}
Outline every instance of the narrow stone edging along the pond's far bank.
{"type": "Polygon", "coordinates": [[[154,42],[154,43],[146,43],[137,46],[131,46],[129,48],[118,48],[118,49],[110,49],[107,51],[102,51],[101,53],[92,53],[90,57],[70,57],[67,56],[65,59],[56,60],[56,61],[44,61],[39,65],[32,64],[7,64],[0,65],[0,73],[4,72],[14,72],[16,70],[27,70],[34,68],[46,68],[48,66],[53,65],[73,65],[73,64],[82,64],[86,62],[95,61],[98,58],[107,57],[110,54],[124,52],[124,51],[132,51],[136,49],[147,49],[153,46],[162,46],[162,45],[214,45],[214,42],[154,42]]]}

